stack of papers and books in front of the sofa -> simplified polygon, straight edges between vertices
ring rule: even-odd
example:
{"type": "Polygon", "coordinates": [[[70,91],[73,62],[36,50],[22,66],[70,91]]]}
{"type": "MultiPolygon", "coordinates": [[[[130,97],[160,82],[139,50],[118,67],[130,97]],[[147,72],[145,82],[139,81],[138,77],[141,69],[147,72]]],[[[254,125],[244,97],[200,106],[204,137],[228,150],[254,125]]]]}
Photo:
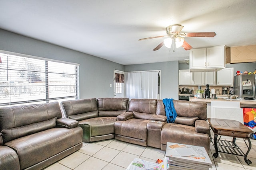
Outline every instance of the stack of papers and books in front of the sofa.
{"type": "Polygon", "coordinates": [[[166,159],[171,170],[208,170],[212,161],[204,147],[167,143],[166,159]]]}

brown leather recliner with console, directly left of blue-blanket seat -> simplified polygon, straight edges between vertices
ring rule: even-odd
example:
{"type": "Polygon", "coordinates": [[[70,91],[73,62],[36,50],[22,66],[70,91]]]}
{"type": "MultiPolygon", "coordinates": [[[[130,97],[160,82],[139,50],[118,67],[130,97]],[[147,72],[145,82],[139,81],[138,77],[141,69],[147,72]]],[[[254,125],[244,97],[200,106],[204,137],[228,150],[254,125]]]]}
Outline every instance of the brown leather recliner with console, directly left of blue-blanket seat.
{"type": "Polygon", "coordinates": [[[156,99],[131,99],[128,112],[118,115],[115,139],[161,148],[161,129],[166,116],[156,114],[156,99]]]}

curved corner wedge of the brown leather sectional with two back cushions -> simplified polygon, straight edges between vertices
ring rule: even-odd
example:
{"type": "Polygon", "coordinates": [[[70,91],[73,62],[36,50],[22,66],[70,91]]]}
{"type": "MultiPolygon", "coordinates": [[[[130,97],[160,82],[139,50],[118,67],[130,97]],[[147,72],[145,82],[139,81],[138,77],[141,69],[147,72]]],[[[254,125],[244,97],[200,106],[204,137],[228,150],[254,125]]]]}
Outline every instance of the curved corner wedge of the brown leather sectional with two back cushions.
{"type": "Polygon", "coordinates": [[[65,117],[77,120],[83,129],[83,142],[113,139],[117,116],[128,109],[128,98],[91,98],[61,102],[65,117]]]}

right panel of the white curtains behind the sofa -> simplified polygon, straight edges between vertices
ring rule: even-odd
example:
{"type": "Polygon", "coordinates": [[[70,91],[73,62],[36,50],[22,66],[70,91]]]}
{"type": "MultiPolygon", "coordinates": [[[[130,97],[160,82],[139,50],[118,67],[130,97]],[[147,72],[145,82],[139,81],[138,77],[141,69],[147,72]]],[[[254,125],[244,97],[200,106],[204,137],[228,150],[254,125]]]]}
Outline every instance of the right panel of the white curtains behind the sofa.
{"type": "Polygon", "coordinates": [[[141,72],[142,98],[157,99],[158,71],[141,72]]]}

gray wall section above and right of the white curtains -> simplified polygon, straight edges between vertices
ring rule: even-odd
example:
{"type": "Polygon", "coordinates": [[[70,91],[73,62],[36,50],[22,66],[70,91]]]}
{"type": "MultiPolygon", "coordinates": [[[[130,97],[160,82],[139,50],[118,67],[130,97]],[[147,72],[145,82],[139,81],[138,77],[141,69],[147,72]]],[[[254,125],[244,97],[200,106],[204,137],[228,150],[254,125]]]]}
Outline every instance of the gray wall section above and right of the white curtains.
{"type": "Polygon", "coordinates": [[[178,100],[178,61],[134,64],[124,66],[124,71],[161,70],[161,99],[178,100]]]}

